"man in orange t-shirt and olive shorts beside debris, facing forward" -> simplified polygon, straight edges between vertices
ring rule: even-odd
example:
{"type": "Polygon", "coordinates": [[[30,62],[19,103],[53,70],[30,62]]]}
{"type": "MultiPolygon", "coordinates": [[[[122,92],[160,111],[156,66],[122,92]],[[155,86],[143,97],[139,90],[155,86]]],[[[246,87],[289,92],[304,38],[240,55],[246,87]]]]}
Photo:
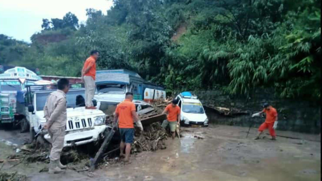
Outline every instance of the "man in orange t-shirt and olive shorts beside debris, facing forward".
{"type": "Polygon", "coordinates": [[[180,107],[177,105],[178,100],[174,99],[171,104],[167,105],[162,114],[167,113],[166,120],[161,124],[163,128],[168,125],[172,134],[172,139],[175,139],[175,130],[180,124],[180,107]]]}

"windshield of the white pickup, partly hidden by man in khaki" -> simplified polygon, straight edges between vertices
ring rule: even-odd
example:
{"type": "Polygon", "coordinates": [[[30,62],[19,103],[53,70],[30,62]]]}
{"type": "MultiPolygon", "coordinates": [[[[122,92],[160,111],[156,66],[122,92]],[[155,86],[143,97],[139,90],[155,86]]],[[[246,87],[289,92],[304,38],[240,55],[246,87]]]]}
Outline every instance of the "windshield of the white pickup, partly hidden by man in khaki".
{"type": "MultiPolygon", "coordinates": [[[[46,100],[50,92],[46,93],[37,93],[37,111],[42,111],[43,107],[45,106],[46,100]]],[[[81,103],[85,97],[85,91],[79,90],[79,91],[72,91],[70,90],[66,95],[67,100],[67,108],[71,107],[81,107],[85,106],[85,103],[81,103]],[[76,101],[77,99],[77,101],[76,101]],[[78,102],[78,103],[76,103],[78,102]]]]}

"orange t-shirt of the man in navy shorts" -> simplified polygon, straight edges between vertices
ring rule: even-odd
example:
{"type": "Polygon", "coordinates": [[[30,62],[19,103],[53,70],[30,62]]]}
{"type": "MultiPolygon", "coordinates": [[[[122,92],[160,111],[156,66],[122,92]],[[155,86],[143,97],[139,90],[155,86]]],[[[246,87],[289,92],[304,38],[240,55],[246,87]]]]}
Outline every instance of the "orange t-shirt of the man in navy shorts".
{"type": "Polygon", "coordinates": [[[135,111],[135,104],[128,99],[116,106],[119,128],[134,128],[132,111],[135,111]]]}

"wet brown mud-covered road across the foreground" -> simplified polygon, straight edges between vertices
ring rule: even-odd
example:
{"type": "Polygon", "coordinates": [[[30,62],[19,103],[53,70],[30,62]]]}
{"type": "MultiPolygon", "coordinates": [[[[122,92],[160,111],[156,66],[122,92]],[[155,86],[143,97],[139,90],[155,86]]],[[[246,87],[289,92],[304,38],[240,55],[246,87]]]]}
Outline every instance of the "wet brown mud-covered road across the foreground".
{"type": "MultiPolygon", "coordinates": [[[[272,141],[252,140],[256,129],[246,139],[248,128],[210,125],[208,128],[184,128],[180,140],[167,140],[167,149],[142,152],[131,157],[130,164],[117,162],[93,174],[67,170],[65,174],[39,173],[43,163],[20,164],[0,171],[19,171],[28,180],[111,180],[111,181],[316,181],[321,178],[321,142],[319,135],[277,131],[272,141]],[[200,139],[196,138],[199,137],[200,139]],[[8,170],[9,169],[9,170],[8,170]]],[[[0,140],[8,136],[0,130],[0,140]]],[[[14,141],[13,141],[14,142],[14,141]]],[[[17,141],[19,144],[19,141],[17,141]]],[[[10,147],[1,143],[0,159],[10,147]]],[[[5,153],[6,152],[6,153],[5,153]]],[[[1,163],[0,163],[1,167],[1,163]]]]}

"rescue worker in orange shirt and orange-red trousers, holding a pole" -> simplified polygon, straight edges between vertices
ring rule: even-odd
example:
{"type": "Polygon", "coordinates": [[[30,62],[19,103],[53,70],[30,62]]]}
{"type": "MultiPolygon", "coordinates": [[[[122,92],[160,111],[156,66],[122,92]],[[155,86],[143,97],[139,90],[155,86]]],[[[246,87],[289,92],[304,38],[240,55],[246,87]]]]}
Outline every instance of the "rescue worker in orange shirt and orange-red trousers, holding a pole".
{"type": "Polygon", "coordinates": [[[262,113],[266,113],[266,119],[265,122],[263,122],[259,129],[258,129],[258,135],[255,138],[255,140],[260,139],[260,134],[265,130],[268,129],[270,131],[270,136],[272,136],[271,140],[276,140],[276,134],[275,129],[277,128],[278,124],[278,115],[277,111],[274,107],[272,107],[270,104],[265,103],[263,105],[263,110],[261,112],[253,114],[251,117],[260,116],[262,113]]]}

